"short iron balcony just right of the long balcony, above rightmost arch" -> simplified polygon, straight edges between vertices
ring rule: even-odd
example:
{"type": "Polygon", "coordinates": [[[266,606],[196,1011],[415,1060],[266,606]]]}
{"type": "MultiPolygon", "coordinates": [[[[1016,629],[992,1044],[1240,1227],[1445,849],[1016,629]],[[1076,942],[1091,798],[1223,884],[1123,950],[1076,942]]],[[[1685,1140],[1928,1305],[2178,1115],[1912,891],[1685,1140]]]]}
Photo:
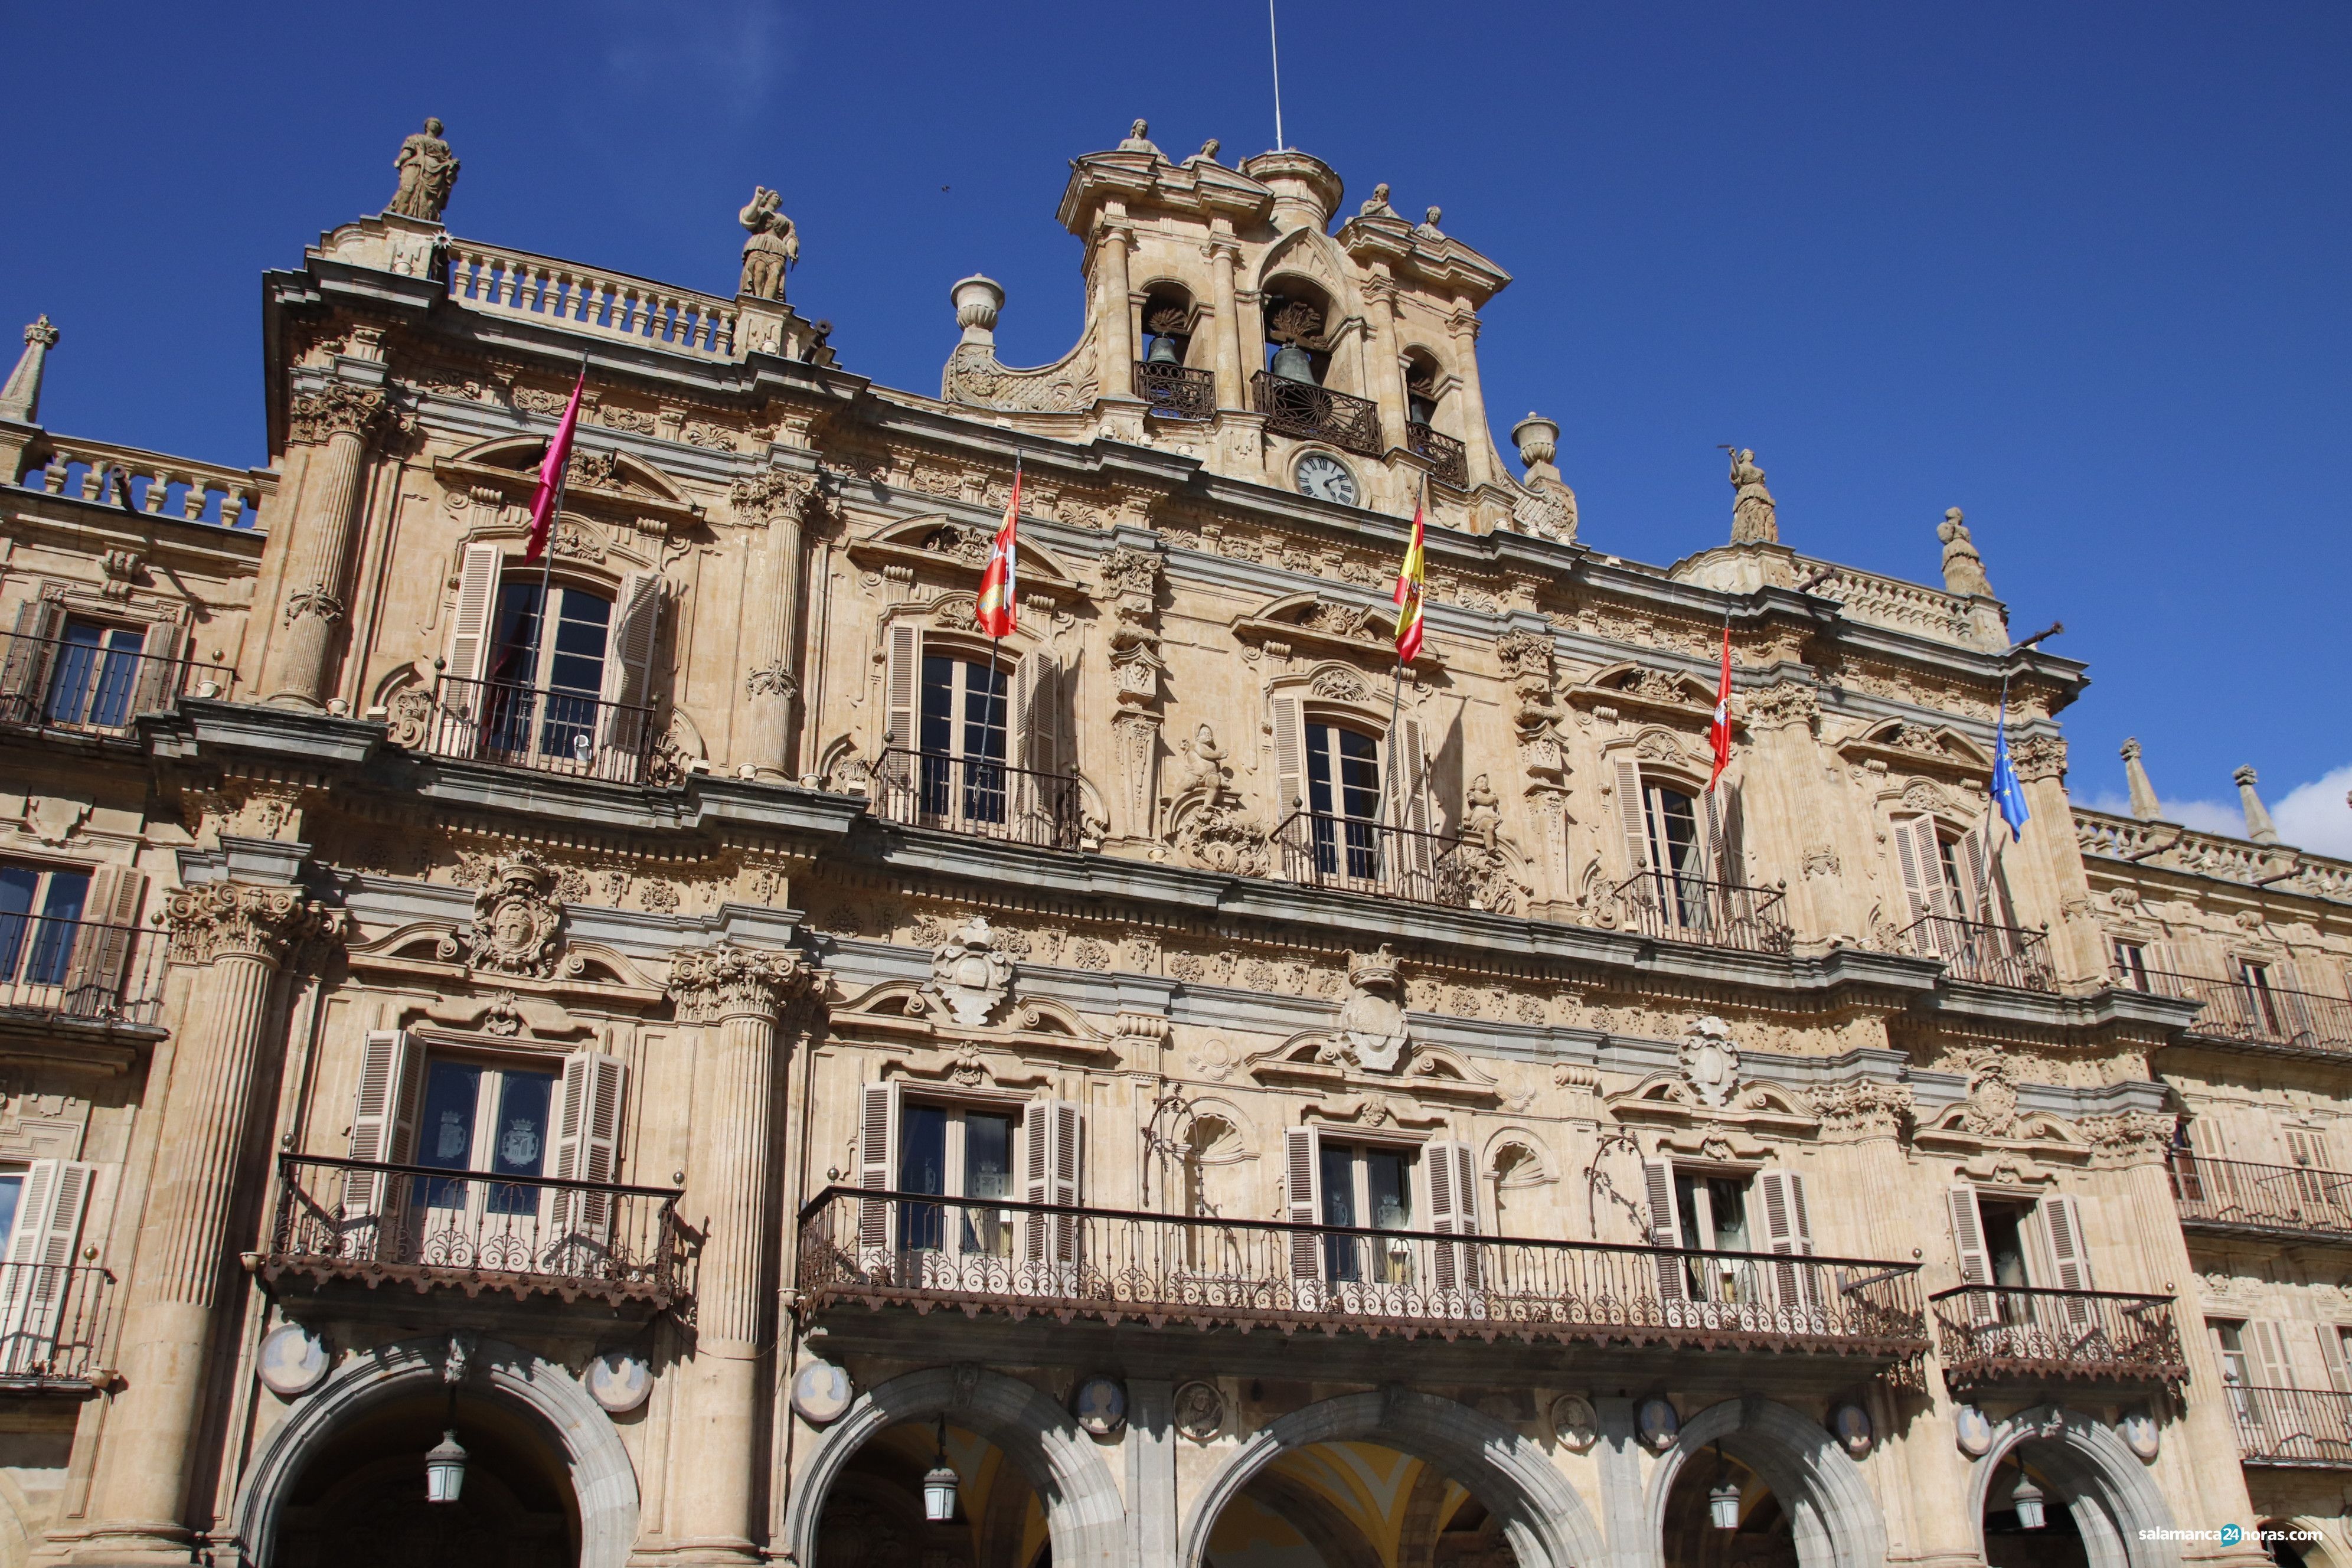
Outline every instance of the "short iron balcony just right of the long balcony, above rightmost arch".
{"type": "Polygon", "coordinates": [[[1929,1302],[1955,1396],[2044,1382],[2178,1387],[2190,1375],[2171,1295],[1959,1286],[1929,1302]]]}

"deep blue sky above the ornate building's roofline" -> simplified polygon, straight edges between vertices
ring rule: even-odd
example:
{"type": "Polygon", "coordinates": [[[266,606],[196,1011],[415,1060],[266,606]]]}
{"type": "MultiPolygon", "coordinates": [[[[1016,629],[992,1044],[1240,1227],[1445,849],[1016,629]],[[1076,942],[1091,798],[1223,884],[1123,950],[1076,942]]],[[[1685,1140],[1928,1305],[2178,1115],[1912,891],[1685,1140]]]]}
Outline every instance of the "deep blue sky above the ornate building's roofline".
{"type": "MultiPolygon", "coordinates": [[[[936,390],[948,284],[1070,346],[1075,153],[1272,146],[1265,12],[816,5],[5,7],[0,317],[64,329],[56,430],[261,451],[259,273],[449,122],[461,235],[729,292],[755,183],[849,369],[936,390]],[[946,190],[941,188],[946,186],[946,190]],[[14,315],[7,315],[14,313],[14,315]]],[[[2091,661],[2077,797],[2232,802],[2352,853],[2352,7],[1287,0],[1289,141],[1446,209],[1517,282],[1498,435],[1562,423],[1602,550],[1722,543],[1752,444],[1799,550],[1936,578],[1964,505],[2023,635],[2091,661]]],[[[9,348],[14,348],[9,343],[9,348]]],[[[2288,832],[2296,837],[2296,830],[2288,832]]]]}

